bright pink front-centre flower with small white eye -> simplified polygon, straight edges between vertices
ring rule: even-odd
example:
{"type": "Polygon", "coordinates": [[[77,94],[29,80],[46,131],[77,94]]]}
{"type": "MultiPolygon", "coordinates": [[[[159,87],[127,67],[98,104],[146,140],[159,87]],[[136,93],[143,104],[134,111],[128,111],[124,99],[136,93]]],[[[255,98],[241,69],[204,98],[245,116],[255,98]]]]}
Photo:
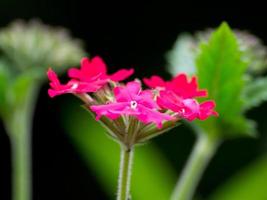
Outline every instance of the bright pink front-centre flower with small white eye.
{"type": "Polygon", "coordinates": [[[159,128],[164,120],[173,118],[158,111],[158,105],[154,100],[154,95],[150,90],[141,90],[141,84],[132,81],[126,86],[114,88],[114,102],[106,105],[91,106],[91,110],[96,113],[96,119],[105,115],[110,119],[116,119],[121,115],[135,116],[141,122],[155,123],[159,128]]]}

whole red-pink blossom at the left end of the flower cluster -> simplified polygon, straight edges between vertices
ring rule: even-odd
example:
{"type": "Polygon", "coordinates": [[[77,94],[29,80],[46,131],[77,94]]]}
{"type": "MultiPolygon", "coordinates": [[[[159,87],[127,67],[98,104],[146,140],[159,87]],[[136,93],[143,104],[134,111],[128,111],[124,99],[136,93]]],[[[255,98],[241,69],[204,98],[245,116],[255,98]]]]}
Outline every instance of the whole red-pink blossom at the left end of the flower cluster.
{"type": "Polygon", "coordinates": [[[88,93],[96,92],[109,80],[121,81],[133,74],[133,69],[121,69],[112,75],[107,75],[106,64],[100,57],[94,57],[91,61],[88,58],[81,60],[81,69],[71,68],[68,71],[71,80],[62,85],[58,80],[56,73],[49,69],[47,72],[48,79],[51,81],[51,89],[48,90],[50,97],[65,93],[88,93]]]}

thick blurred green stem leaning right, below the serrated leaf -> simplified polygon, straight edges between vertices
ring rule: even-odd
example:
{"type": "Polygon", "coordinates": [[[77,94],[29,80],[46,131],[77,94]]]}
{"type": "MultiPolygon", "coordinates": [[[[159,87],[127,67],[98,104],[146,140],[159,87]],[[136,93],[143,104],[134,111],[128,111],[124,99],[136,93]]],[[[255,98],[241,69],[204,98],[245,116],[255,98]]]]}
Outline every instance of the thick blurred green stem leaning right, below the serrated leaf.
{"type": "Polygon", "coordinates": [[[201,176],[218,145],[219,141],[217,139],[204,134],[199,135],[180,180],[176,184],[172,200],[192,199],[201,176]]]}

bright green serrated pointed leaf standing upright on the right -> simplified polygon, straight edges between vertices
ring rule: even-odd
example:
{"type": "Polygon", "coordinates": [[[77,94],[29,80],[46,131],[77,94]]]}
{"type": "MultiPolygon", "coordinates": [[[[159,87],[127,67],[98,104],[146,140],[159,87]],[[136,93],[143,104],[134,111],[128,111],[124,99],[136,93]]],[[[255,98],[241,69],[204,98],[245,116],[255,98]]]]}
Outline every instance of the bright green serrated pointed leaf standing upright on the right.
{"type": "Polygon", "coordinates": [[[212,33],[207,43],[200,45],[196,65],[200,88],[208,90],[209,98],[215,100],[220,115],[199,125],[206,132],[213,127],[213,134],[253,135],[251,122],[243,115],[242,101],[248,63],[242,60],[237,39],[226,23],[212,33]]]}

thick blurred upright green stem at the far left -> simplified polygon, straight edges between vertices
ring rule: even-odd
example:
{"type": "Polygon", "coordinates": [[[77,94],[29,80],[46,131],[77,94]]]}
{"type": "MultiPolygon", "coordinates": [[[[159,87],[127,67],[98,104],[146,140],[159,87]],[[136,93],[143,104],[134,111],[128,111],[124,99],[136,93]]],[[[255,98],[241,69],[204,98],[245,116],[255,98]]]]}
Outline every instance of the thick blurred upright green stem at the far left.
{"type": "Polygon", "coordinates": [[[37,87],[25,92],[23,102],[13,107],[13,112],[5,119],[10,137],[12,155],[12,199],[30,200],[31,177],[31,128],[37,87]]]}

